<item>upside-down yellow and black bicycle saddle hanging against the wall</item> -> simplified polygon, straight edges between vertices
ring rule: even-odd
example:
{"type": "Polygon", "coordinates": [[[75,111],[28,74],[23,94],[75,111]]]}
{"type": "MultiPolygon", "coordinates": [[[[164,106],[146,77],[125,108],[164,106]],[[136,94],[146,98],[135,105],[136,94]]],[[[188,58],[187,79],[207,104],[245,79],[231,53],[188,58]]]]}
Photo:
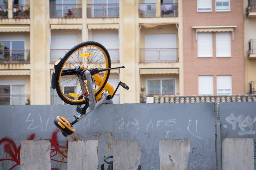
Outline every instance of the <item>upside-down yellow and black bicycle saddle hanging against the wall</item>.
{"type": "Polygon", "coordinates": [[[75,129],[71,129],[70,123],[64,117],[57,116],[54,120],[54,124],[61,130],[63,136],[65,137],[76,131],[75,129]]]}

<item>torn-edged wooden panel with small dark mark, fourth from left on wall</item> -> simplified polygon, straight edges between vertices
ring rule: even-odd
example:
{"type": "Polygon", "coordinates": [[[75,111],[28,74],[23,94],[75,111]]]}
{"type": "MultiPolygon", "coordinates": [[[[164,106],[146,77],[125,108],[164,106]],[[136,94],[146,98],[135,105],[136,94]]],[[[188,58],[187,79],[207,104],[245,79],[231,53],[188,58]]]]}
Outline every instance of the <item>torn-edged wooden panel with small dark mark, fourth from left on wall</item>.
{"type": "Polygon", "coordinates": [[[184,170],[188,168],[190,140],[159,140],[160,169],[184,170]]]}

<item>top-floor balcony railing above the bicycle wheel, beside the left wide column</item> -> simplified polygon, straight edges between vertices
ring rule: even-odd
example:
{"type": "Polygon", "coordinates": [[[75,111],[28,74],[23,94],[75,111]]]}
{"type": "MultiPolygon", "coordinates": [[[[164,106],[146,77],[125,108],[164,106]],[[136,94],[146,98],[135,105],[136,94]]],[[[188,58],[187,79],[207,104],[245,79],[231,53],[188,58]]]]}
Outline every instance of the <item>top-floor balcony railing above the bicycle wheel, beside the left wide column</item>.
{"type": "Polygon", "coordinates": [[[82,4],[50,4],[50,18],[82,18],[82,4]]]}

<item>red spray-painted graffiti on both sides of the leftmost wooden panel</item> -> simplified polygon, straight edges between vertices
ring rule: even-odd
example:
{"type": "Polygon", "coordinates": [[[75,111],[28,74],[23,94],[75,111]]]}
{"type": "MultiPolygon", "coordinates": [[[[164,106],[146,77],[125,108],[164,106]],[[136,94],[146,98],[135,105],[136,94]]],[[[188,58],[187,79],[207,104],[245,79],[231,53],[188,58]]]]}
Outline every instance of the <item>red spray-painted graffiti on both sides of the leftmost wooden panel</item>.
{"type": "MultiPolygon", "coordinates": [[[[67,155],[63,153],[63,149],[67,150],[66,146],[62,146],[59,145],[58,142],[58,137],[57,137],[57,133],[60,130],[57,129],[55,131],[52,132],[52,139],[51,139],[51,160],[52,161],[57,161],[57,162],[62,162],[62,163],[67,163],[66,161],[63,160],[56,160],[53,159],[52,157],[56,156],[58,153],[63,157],[67,159],[67,155]]],[[[28,140],[33,140],[35,138],[35,134],[31,134],[27,139],[28,140]]],[[[5,158],[5,159],[0,159],[1,161],[6,161],[6,160],[11,160],[14,161],[16,164],[14,166],[12,166],[11,168],[9,168],[9,170],[13,169],[15,166],[20,165],[20,146],[17,148],[17,146],[15,145],[15,142],[8,138],[8,137],[4,137],[0,140],[0,145],[4,144],[4,152],[9,154],[10,158],[5,158]]]]}

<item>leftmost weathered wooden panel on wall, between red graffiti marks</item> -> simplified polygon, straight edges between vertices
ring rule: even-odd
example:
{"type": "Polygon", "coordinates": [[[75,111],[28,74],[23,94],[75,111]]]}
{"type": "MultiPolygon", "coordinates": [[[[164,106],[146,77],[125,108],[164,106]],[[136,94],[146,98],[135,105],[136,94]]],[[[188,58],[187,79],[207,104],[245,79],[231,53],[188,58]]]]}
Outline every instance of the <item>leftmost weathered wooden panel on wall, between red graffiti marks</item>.
{"type": "Polygon", "coordinates": [[[50,140],[21,140],[20,169],[51,169],[50,140]]]}

